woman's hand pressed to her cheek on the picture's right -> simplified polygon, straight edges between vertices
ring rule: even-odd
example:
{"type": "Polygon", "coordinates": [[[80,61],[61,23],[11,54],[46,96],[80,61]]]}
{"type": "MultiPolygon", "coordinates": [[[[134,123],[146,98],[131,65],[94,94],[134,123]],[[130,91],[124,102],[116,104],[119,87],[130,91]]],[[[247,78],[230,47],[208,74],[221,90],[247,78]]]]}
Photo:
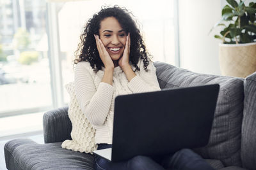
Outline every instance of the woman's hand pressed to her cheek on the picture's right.
{"type": "Polygon", "coordinates": [[[118,60],[118,66],[120,66],[121,68],[130,66],[129,65],[130,46],[131,46],[130,33],[128,33],[123,56],[120,57],[120,59],[118,60]]]}

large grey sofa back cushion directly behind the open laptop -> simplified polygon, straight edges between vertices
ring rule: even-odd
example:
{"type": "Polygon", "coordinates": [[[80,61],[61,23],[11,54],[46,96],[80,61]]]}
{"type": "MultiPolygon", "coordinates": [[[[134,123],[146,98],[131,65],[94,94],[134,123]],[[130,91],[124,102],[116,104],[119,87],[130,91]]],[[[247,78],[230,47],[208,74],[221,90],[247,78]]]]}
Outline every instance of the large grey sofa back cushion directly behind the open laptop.
{"type": "Polygon", "coordinates": [[[209,143],[195,151],[205,159],[221,160],[224,166],[241,166],[243,79],[193,73],[163,62],[154,65],[161,89],[220,84],[209,143]]]}

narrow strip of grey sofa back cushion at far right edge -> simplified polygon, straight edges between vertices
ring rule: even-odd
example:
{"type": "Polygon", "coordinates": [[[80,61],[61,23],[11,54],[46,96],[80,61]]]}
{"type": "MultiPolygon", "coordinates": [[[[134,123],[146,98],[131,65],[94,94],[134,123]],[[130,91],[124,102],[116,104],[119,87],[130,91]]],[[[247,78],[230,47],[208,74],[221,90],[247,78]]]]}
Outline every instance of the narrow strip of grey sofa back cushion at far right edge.
{"type": "Polygon", "coordinates": [[[244,81],[244,118],[241,158],[247,169],[256,169],[256,73],[244,81]]]}

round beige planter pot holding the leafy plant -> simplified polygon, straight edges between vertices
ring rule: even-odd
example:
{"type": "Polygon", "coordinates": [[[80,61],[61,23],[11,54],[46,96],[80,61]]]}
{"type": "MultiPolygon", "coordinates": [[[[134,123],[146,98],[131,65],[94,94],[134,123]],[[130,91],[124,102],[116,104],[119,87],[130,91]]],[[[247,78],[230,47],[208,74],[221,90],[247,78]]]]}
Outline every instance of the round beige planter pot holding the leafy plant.
{"type": "Polygon", "coordinates": [[[245,78],[256,71],[256,43],[220,44],[220,69],[223,76],[245,78]]]}

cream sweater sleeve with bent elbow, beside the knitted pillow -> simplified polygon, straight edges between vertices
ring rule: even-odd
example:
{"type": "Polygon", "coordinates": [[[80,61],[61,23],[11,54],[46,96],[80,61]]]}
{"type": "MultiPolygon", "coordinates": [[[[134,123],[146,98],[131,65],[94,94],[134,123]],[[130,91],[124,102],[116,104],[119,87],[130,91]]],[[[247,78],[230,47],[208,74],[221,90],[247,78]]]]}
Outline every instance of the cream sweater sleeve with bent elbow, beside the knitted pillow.
{"type": "Polygon", "coordinates": [[[80,62],[76,66],[75,89],[77,101],[91,124],[102,125],[109,112],[114,87],[108,83],[100,82],[96,89],[92,74],[86,66],[86,64],[80,62]]]}

